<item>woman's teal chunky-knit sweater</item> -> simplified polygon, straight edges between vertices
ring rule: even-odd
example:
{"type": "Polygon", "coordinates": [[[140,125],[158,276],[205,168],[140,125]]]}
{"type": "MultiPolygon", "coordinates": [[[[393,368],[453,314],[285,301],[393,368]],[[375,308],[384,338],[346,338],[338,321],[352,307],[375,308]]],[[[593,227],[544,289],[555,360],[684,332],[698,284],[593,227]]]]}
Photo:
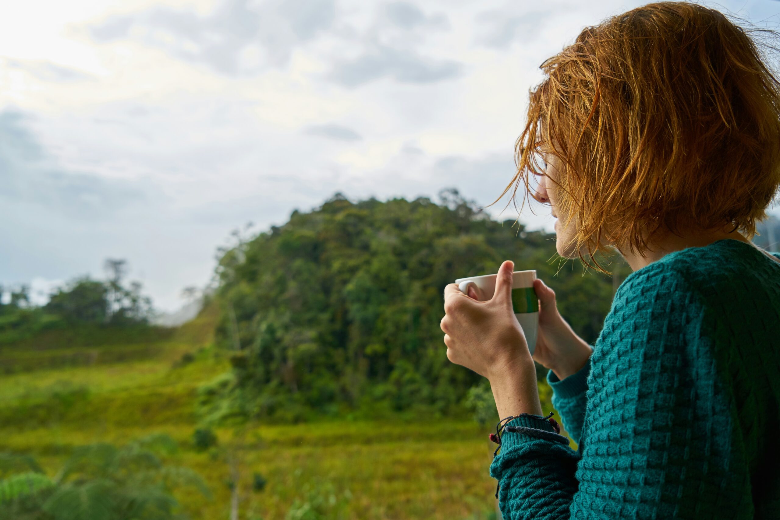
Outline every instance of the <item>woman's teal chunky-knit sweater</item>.
{"type": "Polygon", "coordinates": [[[780,518],[780,264],[750,244],[629,274],[589,363],[548,381],[579,445],[503,433],[505,520],[780,518]]]}

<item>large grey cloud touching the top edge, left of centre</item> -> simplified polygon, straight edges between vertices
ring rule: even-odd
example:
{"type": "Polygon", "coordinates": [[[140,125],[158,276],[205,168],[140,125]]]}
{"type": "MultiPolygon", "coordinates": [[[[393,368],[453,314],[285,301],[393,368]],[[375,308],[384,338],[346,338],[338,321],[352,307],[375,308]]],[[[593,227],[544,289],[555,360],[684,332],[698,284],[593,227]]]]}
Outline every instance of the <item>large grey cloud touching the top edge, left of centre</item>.
{"type": "Polygon", "coordinates": [[[296,45],[331,27],[335,0],[227,0],[207,16],[156,8],[113,16],[90,27],[95,41],[140,39],[218,73],[256,73],[265,62],[283,66],[296,45]],[[257,55],[261,55],[259,59],[257,55]]]}

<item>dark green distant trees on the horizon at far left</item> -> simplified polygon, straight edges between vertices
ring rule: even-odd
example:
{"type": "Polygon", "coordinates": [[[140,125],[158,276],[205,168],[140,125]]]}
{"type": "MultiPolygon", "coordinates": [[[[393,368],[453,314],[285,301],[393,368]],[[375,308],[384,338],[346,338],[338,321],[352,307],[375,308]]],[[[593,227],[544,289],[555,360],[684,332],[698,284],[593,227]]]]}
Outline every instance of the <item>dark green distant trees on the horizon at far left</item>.
{"type": "Polygon", "coordinates": [[[138,281],[126,283],[126,260],[105,260],[105,280],[75,278],[55,288],[49,300],[36,306],[30,286],[0,285],[0,342],[29,338],[37,332],[69,325],[146,325],[154,316],[151,299],[138,281]]]}

